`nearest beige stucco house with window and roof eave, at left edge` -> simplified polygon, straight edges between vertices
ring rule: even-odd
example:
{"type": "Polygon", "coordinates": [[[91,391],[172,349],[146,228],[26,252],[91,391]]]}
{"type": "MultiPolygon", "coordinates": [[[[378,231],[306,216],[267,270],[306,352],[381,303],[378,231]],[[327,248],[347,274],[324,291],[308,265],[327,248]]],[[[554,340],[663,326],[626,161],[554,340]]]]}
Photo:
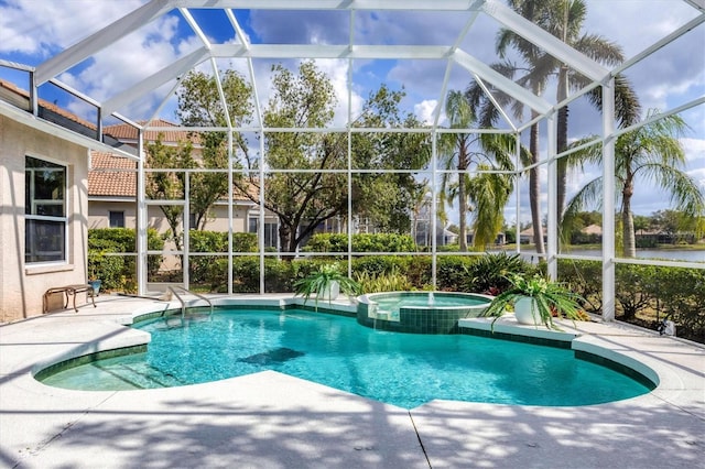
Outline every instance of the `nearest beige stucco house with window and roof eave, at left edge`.
{"type": "MultiPolygon", "coordinates": [[[[51,287],[86,283],[88,160],[110,150],[93,123],[37,105],[34,116],[29,94],[0,80],[0,321],[42,314],[51,287]]],[[[63,293],[48,301],[63,306],[63,293]]]]}

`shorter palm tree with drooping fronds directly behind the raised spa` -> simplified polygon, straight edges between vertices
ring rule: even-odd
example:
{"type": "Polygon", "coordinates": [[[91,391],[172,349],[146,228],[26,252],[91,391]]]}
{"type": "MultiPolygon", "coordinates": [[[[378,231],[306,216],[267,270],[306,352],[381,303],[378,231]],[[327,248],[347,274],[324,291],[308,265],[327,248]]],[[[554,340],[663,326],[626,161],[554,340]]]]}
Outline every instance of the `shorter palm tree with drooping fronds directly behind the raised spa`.
{"type": "MultiPolygon", "coordinates": [[[[451,129],[470,129],[476,127],[475,109],[470,106],[462,91],[451,90],[446,97],[446,117],[451,129]]],[[[442,175],[441,211],[445,212],[445,203],[457,200],[460,250],[467,251],[467,212],[469,203],[475,204],[481,214],[476,216],[475,230],[482,236],[475,237],[474,244],[484,248],[480,242],[487,238],[487,232],[501,228],[502,211],[511,194],[511,176],[497,173],[482,173],[473,177],[469,170],[513,170],[511,155],[516,142],[513,137],[496,133],[469,134],[445,133],[440,139],[438,157],[443,170],[442,175]],[[482,151],[473,151],[479,146],[482,151]],[[494,164],[496,163],[496,165],[494,164]],[[457,179],[454,176],[457,174],[457,179]],[[475,181],[478,179],[478,181],[475,181]],[[480,183],[481,181],[481,183],[480,183]],[[479,190],[479,185],[492,190],[479,190]],[[470,189],[475,190],[470,190],[470,189]],[[491,214],[490,214],[491,211],[491,214]],[[499,225],[498,225],[499,220],[499,225]]],[[[495,231],[491,239],[497,234],[495,231]]]]}

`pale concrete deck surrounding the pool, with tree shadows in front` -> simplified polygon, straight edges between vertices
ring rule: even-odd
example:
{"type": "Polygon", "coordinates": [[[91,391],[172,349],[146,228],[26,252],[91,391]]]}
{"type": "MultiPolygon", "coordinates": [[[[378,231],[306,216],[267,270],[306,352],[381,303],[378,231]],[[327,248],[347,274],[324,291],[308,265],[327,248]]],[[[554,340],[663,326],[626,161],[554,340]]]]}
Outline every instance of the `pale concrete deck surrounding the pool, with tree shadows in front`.
{"type": "Polygon", "coordinates": [[[646,364],[660,385],[583,407],[433,401],[408,411],[272,371],[118,392],[35,381],[57,359],[144,341],[120,323],[165,307],[98,299],[0,326],[0,467],[641,469],[705,457],[705,348],[623,324],[563,327],[586,350],[646,364]]]}

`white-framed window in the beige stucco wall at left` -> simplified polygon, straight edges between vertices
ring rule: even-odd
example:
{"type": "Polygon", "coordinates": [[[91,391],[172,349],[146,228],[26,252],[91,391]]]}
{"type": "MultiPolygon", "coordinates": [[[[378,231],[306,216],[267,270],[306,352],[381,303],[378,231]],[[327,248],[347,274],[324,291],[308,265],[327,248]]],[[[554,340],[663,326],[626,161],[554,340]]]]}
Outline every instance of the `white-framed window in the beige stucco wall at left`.
{"type": "Polygon", "coordinates": [[[24,262],[66,261],[66,166],[25,156],[24,262]]]}

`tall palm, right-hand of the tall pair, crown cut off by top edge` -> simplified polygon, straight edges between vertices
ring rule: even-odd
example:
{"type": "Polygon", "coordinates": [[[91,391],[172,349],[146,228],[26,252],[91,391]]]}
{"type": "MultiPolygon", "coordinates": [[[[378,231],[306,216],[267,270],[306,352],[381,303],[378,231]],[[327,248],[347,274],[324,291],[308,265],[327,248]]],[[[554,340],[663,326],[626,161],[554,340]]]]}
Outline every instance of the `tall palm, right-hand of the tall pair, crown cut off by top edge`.
{"type": "MultiPolygon", "coordinates": [[[[623,61],[621,48],[615,43],[599,35],[582,33],[587,15],[587,8],[583,0],[509,0],[509,4],[525,19],[536,23],[576,51],[599,63],[616,65],[623,61]]],[[[536,90],[543,91],[549,78],[557,75],[556,101],[561,102],[567,98],[568,89],[579,89],[588,83],[587,78],[529,43],[513,31],[501,30],[497,40],[497,52],[501,58],[506,57],[509,47],[514,48],[525,63],[524,79],[529,84],[542,84],[540,88],[531,87],[534,92],[536,90]]],[[[616,91],[619,92],[619,89],[616,91]]],[[[599,95],[594,94],[590,98],[593,102],[595,102],[596,96],[599,95]]],[[[567,149],[567,129],[568,107],[564,106],[558,110],[557,117],[556,144],[558,153],[567,149]]],[[[534,153],[532,152],[532,154],[534,153]]],[[[561,159],[557,162],[556,215],[558,220],[561,220],[565,204],[566,174],[567,160],[561,159]]]]}

